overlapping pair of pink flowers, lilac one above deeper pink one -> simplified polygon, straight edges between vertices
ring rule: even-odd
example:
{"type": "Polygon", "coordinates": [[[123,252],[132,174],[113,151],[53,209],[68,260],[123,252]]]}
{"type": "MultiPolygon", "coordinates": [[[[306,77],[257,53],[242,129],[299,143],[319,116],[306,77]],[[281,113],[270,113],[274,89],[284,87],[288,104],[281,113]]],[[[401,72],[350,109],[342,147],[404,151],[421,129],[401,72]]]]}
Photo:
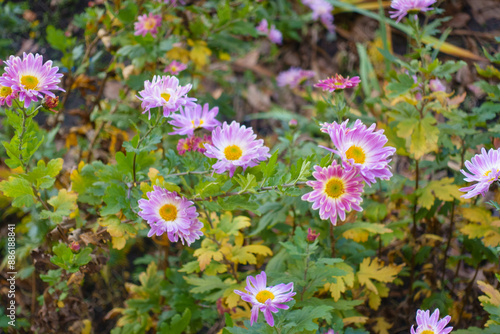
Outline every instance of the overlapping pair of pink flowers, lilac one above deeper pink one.
{"type": "Polygon", "coordinates": [[[394,147],[385,146],[388,139],[383,130],[375,131],[375,124],[368,128],[356,120],[348,127],[348,121],[322,124],[321,131],[330,135],[335,149],[320,147],[340,156],[342,164],[334,160],[328,167],[314,166],[316,181],[307,182],[313,191],[302,196],[302,200],[313,203],[314,210],[319,209],[321,219],[330,219],[333,225],[337,216],[345,220],[346,212],[363,210],[364,182],[371,186],[376,178],[391,178],[389,157],[396,152],[394,147]]]}

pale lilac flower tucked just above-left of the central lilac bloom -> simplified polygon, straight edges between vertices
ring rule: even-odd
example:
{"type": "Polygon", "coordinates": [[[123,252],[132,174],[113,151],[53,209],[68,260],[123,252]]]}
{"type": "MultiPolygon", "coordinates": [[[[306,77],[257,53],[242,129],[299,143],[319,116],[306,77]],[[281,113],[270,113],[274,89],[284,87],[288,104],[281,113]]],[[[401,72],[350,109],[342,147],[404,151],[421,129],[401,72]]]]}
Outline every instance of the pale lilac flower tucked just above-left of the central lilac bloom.
{"type": "Polygon", "coordinates": [[[194,107],[180,108],[179,114],[173,114],[169,123],[174,126],[174,131],[169,135],[189,135],[191,136],[197,129],[212,131],[220,125],[215,119],[219,113],[219,107],[208,110],[208,103],[202,107],[197,104],[194,107]]]}

